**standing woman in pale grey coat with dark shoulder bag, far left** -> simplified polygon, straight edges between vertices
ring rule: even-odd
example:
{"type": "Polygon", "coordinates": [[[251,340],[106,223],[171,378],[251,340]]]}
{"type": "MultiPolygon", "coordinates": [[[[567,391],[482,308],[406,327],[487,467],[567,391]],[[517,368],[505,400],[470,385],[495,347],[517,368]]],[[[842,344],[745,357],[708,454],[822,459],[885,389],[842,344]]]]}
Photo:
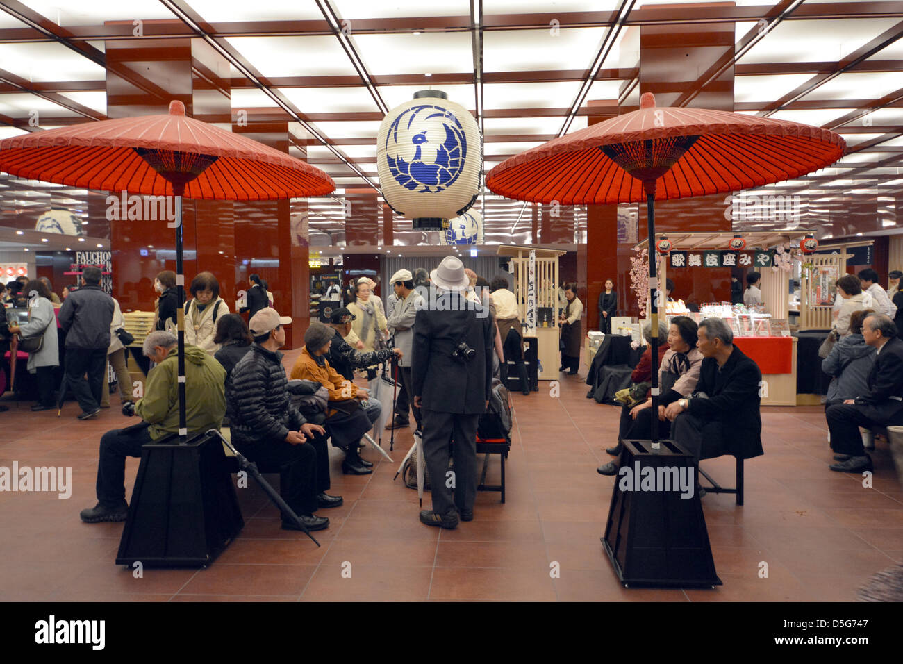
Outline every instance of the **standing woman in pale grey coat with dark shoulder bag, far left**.
{"type": "Polygon", "coordinates": [[[57,343],[56,313],[50,300],[47,285],[37,279],[25,284],[24,294],[28,295],[28,323],[22,327],[9,326],[9,331],[18,332],[23,340],[43,336],[40,351],[28,354],[28,372],[35,374],[38,383],[38,402],[32,410],[50,410],[53,402],[53,369],[60,366],[60,346],[57,343]]]}

